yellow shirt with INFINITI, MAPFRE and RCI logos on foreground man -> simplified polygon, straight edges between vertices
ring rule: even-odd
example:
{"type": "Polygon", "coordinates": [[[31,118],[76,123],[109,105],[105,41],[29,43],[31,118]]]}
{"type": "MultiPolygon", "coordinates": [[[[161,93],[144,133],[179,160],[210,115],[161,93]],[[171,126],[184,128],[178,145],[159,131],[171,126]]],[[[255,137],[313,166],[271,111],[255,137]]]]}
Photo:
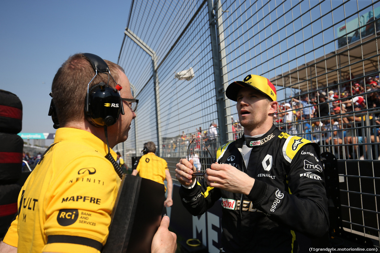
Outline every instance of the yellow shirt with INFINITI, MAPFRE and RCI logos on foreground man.
{"type": "Polygon", "coordinates": [[[3,241],[23,253],[100,252],[120,187],[106,144],[74,128],[59,128],[54,143],[22,187],[3,241]]]}

